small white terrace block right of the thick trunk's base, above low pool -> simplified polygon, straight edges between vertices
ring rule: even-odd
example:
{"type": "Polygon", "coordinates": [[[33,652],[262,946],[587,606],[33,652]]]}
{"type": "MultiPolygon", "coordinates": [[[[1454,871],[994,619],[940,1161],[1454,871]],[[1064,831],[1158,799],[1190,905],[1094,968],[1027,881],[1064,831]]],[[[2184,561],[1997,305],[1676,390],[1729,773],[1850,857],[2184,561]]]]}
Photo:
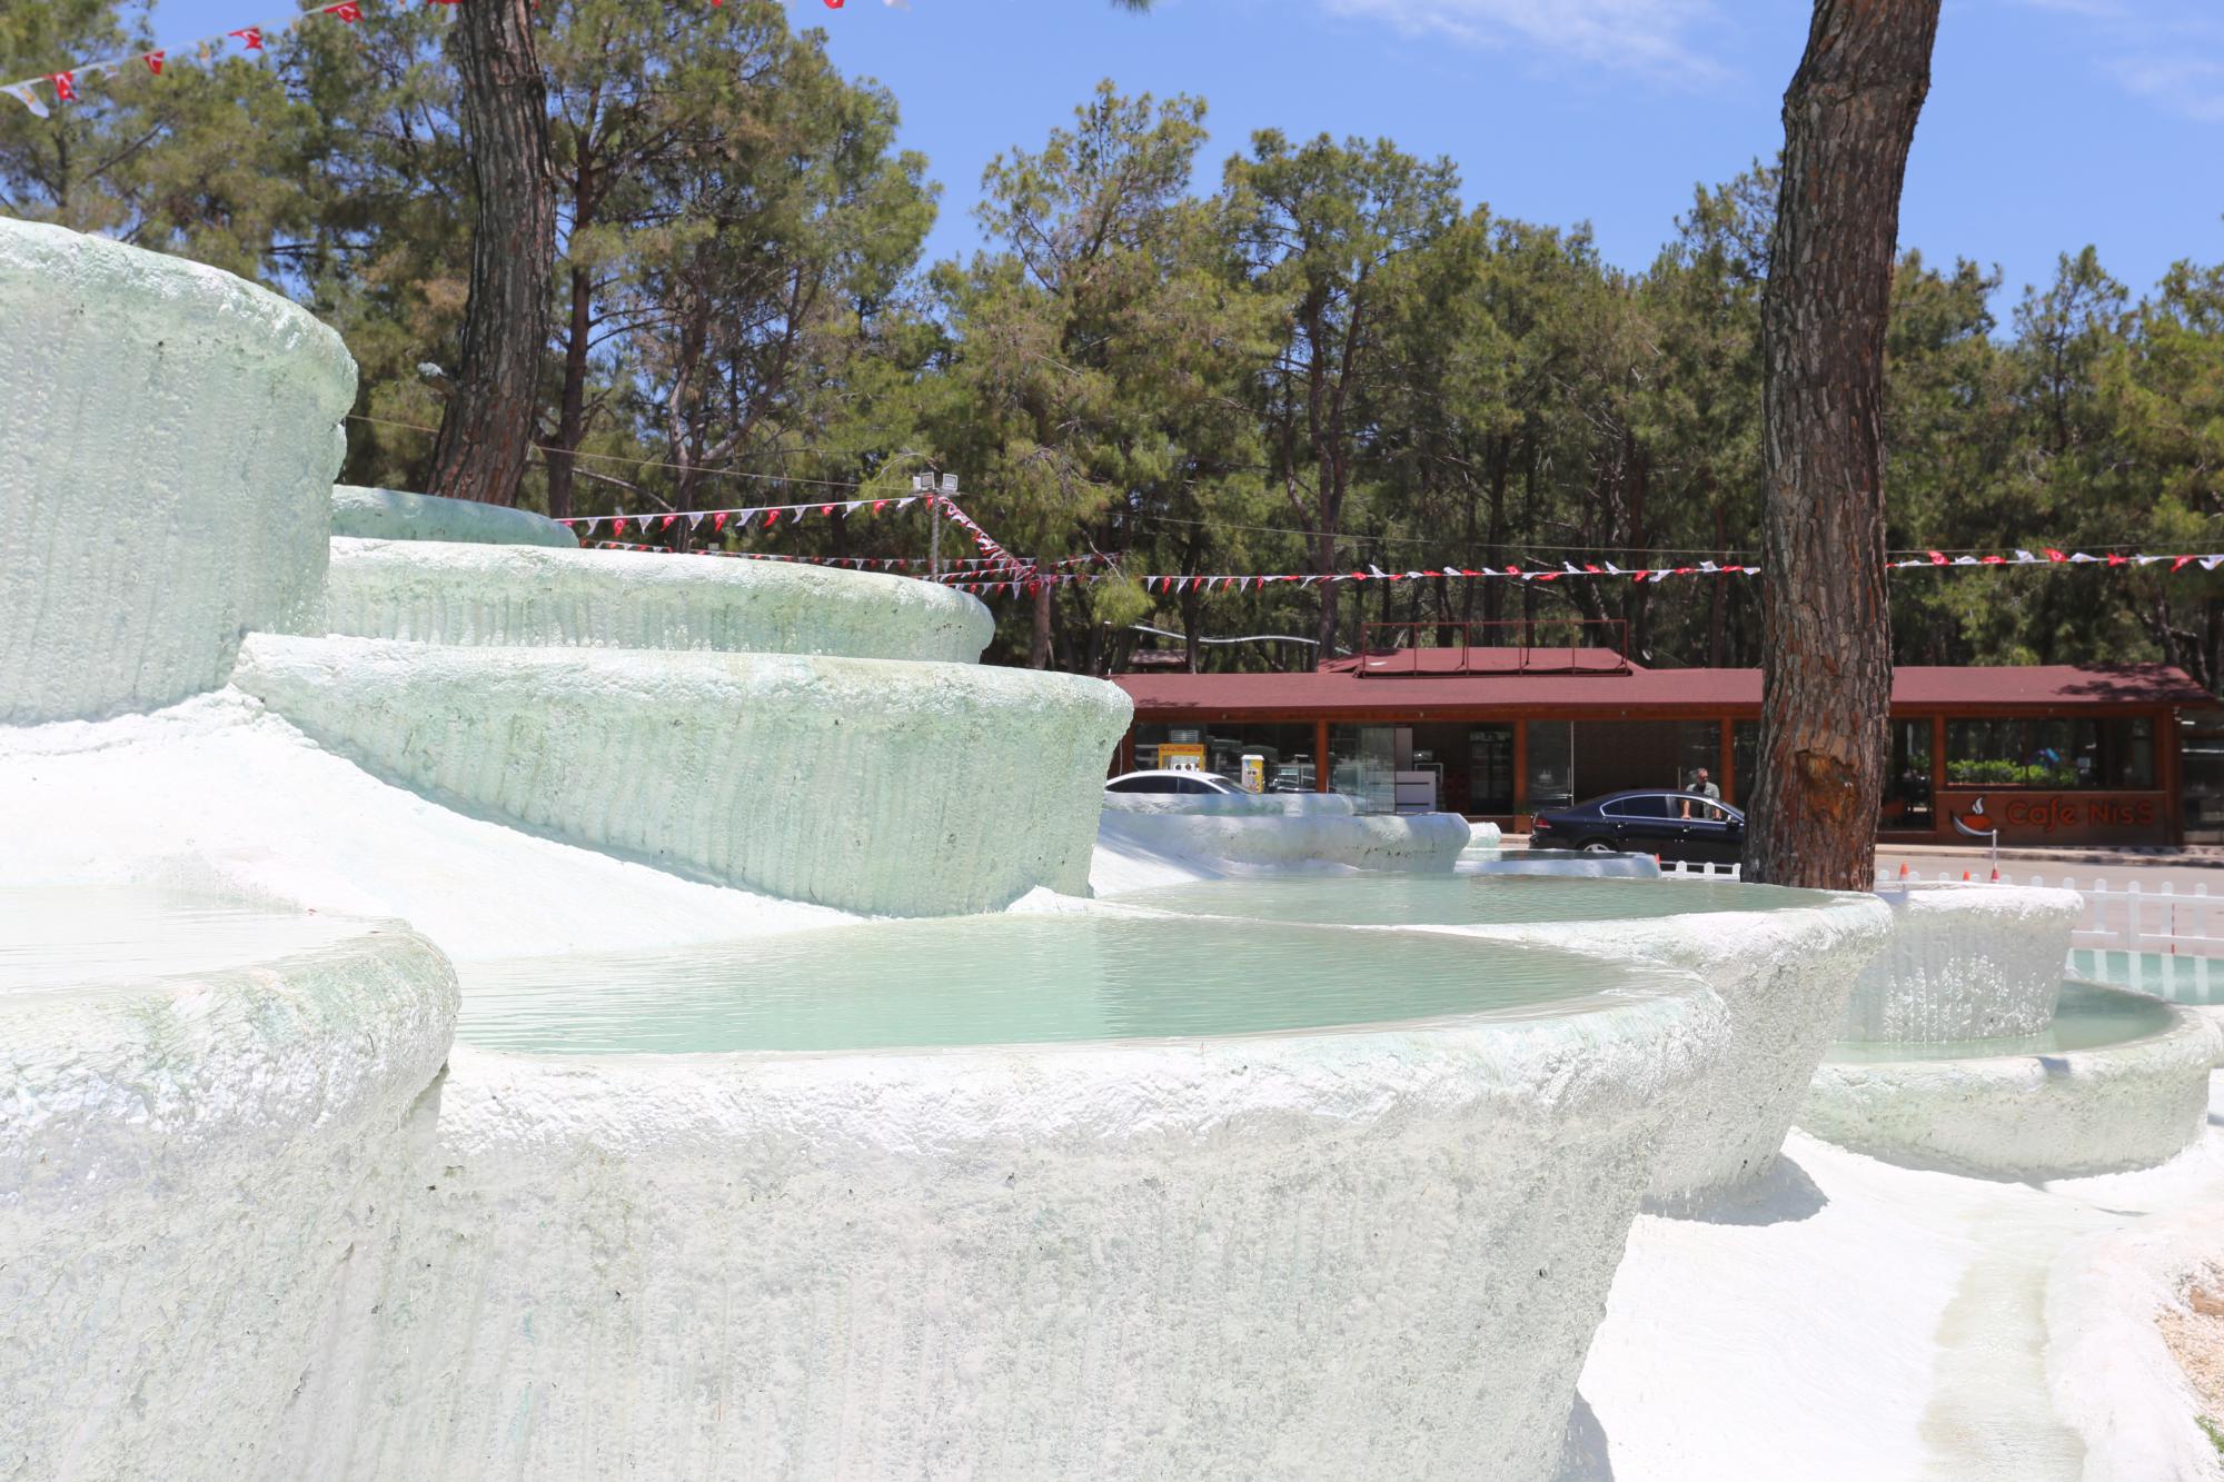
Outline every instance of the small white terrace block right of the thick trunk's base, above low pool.
{"type": "Polygon", "coordinates": [[[1922,886],[1877,892],[1893,941],[1846,1006],[1846,1039],[1944,1044],[2035,1035],[2055,1017],[2075,890],[1922,886]]]}

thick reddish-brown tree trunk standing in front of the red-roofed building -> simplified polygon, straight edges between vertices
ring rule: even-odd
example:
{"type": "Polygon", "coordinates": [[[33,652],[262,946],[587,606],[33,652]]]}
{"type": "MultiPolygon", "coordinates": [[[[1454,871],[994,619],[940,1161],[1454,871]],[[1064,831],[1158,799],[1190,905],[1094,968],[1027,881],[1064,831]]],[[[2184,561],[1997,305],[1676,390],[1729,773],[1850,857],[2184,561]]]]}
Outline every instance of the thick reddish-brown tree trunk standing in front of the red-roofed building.
{"type": "Polygon", "coordinates": [[[1893,634],[1884,327],[1939,0],[1815,0],[1761,292],[1761,748],[1746,879],[1875,883],[1893,634]]]}

